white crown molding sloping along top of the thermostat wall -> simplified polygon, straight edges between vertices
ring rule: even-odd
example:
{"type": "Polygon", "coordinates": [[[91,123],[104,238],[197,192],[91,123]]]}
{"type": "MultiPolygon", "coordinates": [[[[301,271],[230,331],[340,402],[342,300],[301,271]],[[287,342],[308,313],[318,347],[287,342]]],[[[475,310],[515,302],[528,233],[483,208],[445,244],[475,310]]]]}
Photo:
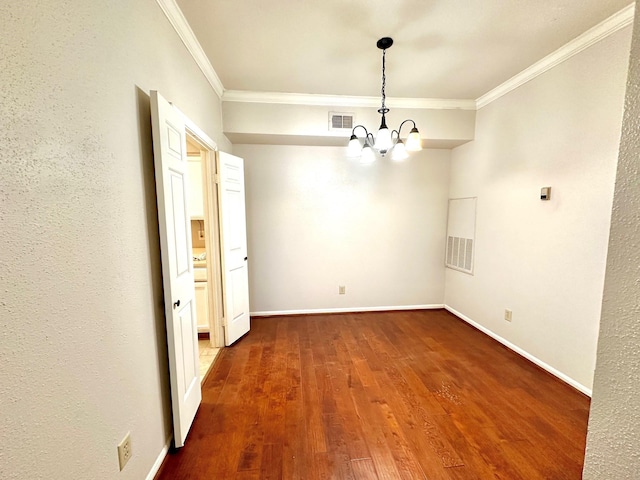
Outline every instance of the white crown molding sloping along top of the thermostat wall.
{"type": "Polygon", "coordinates": [[[497,100],[503,95],[506,95],[521,85],[524,85],[528,81],[533,80],[538,75],[542,75],[547,70],[550,70],[565,60],[568,60],[575,54],[589,48],[591,45],[598,43],[600,40],[607,38],[618,30],[631,25],[631,23],[633,23],[634,11],[634,3],[632,3],[619,12],[614,13],[606,20],[587,30],[582,35],[574,38],[555,52],[547,55],[542,60],[534,63],[522,72],[511,77],[503,84],[479,97],[476,100],[477,108],[480,109],[490,104],[494,100],[497,100]]]}

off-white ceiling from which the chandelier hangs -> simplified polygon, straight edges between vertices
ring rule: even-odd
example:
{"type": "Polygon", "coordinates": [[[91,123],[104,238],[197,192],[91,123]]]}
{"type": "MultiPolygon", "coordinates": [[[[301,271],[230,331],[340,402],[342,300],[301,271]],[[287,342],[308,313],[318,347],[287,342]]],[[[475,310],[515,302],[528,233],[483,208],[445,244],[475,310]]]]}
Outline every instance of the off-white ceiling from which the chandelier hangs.
{"type": "Polygon", "coordinates": [[[630,0],[177,0],[225,89],[477,99],[630,0]]]}

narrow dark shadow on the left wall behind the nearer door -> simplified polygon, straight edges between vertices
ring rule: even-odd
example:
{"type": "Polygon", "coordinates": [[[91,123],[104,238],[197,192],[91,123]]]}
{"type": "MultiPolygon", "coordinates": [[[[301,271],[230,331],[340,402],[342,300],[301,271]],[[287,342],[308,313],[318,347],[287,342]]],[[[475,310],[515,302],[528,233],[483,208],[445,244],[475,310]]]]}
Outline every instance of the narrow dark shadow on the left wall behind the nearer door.
{"type": "Polygon", "coordinates": [[[165,438],[172,433],[171,392],[169,388],[169,363],[167,358],[167,331],[164,316],[164,291],[162,286],[162,262],[160,258],[160,230],[158,225],[158,205],[156,203],[156,180],[153,163],[153,139],[151,135],[151,98],[149,94],[136,86],[136,105],[138,106],[138,135],[140,145],[140,168],[144,184],[144,205],[149,239],[150,278],[153,288],[154,323],[158,352],[159,383],[162,389],[164,408],[165,438]]]}

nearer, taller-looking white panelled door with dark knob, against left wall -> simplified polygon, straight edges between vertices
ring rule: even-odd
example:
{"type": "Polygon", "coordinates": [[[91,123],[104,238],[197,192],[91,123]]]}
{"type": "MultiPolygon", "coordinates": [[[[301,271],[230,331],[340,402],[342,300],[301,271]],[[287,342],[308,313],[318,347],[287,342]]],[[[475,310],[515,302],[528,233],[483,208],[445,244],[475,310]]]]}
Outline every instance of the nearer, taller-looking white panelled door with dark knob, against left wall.
{"type": "Polygon", "coordinates": [[[182,114],[155,91],[151,92],[151,127],[173,436],[175,446],[182,447],[202,400],[191,223],[187,209],[187,144],[182,114]]]}

